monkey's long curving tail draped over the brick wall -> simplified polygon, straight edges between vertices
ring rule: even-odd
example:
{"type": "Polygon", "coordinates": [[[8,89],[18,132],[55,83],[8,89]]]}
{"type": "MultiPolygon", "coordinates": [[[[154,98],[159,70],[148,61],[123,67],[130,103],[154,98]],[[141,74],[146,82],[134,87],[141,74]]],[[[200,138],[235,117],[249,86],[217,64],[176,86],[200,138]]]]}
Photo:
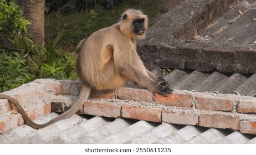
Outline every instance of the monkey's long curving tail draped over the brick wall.
{"type": "Polygon", "coordinates": [[[9,95],[5,95],[5,94],[0,94],[0,99],[7,99],[9,102],[12,102],[12,104],[14,106],[16,106],[18,111],[22,114],[22,117],[25,120],[25,122],[30,127],[35,128],[35,129],[39,129],[39,128],[44,128],[46,126],[49,126],[49,125],[51,125],[51,124],[53,124],[55,122],[58,122],[60,120],[64,120],[66,118],[71,117],[75,112],[77,112],[80,109],[80,107],[82,107],[84,105],[84,102],[90,96],[90,92],[91,92],[90,87],[82,85],[81,86],[80,95],[78,97],[78,101],[76,101],[75,104],[69,108],[69,110],[65,111],[61,115],[53,118],[52,120],[50,120],[49,122],[44,123],[44,124],[37,124],[37,123],[33,122],[32,120],[30,120],[30,118],[28,117],[27,113],[24,111],[23,107],[13,97],[11,97],[9,95]]]}

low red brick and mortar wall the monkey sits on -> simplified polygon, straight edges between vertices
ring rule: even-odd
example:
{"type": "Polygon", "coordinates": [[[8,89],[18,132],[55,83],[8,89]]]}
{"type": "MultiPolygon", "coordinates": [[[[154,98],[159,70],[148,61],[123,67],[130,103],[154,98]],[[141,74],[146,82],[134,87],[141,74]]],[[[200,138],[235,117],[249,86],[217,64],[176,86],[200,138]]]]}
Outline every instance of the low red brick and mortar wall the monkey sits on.
{"type": "MultiPolygon", "coordinates": [[[[66,111],[77,100],[79,89],[79,81],[40,79],[4,92],[4,94],[15,97],[25,90],[26,93],[19,95],[17,99],[28,112],[29,117],[35,120],[48,115],[50,111],[66,111]]],[[[114,97],[105,95],[104,99],[101,96],[98,99],[90,98],[85,102],[84,107],[81,107],[79,113],[152,122],[232,128],[242,133],[255,134],[256,98],[254,97],[175,90],[167,97],[153,95],[149,101],[147,98],[151,96],[149,91],[131,86],[111,91],[110,94],[114,97]],[[121,94],[126,92],[126,95],[121,95],[119,99],[119,92],[121,94]],[[140,97],[137,97],[138,94],[140,97]],[[109,98],[106,99],[106,96],[109,98]]],[[[17,111],[13,111],[13,107],[10,107],[6,100],[0,100],[0,105],[2,109],[1,133],[23,125],[22,116],[17,111]]]]}

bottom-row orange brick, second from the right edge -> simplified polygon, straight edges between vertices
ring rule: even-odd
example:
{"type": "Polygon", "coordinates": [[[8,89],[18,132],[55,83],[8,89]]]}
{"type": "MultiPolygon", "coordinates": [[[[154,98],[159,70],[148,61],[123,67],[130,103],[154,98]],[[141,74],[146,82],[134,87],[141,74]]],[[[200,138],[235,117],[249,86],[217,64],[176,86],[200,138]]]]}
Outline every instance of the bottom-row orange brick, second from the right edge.
{"type": "Polygon", "coordinates": [[[239,129],[239,118],[224,115],[199,115],[199,126],[239,129]]]}

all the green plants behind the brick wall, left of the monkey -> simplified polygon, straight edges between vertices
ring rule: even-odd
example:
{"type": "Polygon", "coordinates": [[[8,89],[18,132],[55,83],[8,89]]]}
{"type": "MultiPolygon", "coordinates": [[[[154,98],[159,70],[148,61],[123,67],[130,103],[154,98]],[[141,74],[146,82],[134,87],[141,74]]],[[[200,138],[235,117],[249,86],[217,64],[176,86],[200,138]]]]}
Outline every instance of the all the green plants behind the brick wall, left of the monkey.
{"type": "Polygon", "coordinates": [[[76,53],[55,48],[64,31],[38,45],[26,36],[29,22],[22,16],[14,0],[0,0],[0,92],[35,79],[76,79],[76,53]]]}

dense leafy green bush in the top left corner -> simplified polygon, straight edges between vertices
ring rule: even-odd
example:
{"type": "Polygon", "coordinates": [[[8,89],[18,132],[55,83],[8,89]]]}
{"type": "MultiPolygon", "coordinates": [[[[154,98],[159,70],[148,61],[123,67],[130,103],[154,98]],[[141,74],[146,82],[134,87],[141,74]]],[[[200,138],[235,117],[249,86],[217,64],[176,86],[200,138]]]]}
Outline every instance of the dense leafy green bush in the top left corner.
{"type": "Polygon", "coordinates": [[[19,33],[27,33],[30,24],[23,16],[23,11],[14,0],[0,0],[0,41],[13,38],[19,33]]]}

